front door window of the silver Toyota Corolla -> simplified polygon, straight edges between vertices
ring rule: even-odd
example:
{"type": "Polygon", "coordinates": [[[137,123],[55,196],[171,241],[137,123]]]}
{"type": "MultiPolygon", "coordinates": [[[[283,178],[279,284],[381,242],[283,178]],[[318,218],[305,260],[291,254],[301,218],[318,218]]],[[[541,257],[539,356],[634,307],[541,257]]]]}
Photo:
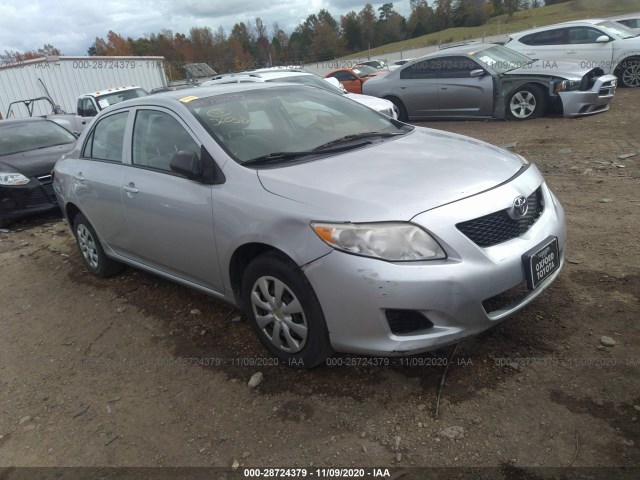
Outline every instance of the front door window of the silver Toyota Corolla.
{"type": "Polygon", "coordinates": [[[173,116],[157,110],[139,110],[133,126],[133,165],[170,172],[174,153],[195,152],[200,146],[173,116]]]}

